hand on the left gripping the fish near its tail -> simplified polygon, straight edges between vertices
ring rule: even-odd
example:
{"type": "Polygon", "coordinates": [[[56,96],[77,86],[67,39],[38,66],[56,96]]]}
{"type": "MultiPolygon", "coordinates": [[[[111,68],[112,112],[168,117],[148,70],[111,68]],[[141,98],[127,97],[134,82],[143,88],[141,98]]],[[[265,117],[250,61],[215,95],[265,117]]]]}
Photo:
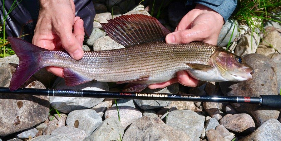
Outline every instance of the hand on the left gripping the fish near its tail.
{"type": "MultiPolygon", "coordinates": [[[[40,0],[40,7],[32,43],[50,50],[65,49],[72,58],[81,59],[84,23],[75,17],[73,0],[40,0]]],[[[47,67],[47,70],[63,77],[62,68],[47,67]]]]}

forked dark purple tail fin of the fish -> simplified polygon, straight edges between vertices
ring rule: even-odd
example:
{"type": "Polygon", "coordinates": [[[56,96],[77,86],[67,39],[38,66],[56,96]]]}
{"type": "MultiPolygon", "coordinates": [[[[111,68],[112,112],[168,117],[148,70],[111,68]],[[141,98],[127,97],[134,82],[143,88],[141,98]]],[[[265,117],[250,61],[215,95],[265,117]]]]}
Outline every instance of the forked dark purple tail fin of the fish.
{"type": "Polygon", "coordinates": [[[19,88],[40,68],[45,67],[40,61],[40,54],[42,54],[43,51],[47,51],[47,49],[40,48],[25,40],[15,37],[8,37],[8,40],[12,46],[12,49],[19,58],[19,65],[12,76],[9,86],[10,90],[12,91],[19,88]]]}

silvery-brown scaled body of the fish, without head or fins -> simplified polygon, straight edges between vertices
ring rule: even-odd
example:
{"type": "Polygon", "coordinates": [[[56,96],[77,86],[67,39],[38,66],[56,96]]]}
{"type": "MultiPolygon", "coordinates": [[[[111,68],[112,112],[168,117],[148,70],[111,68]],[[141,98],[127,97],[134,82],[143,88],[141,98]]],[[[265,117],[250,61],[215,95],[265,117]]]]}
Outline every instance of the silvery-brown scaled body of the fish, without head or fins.
{"type": "Polygon", "coordinates": [[[72,68],[97,81],[118,82],[145,75],[170,79],[177,71],[188,69],[185,63],[206,64],[216,48],[202,42],[169,45],[153,41],[123,49],[85,51],[81,60],[62,51],[46,51],[42,60],[50,66],[72,68]]]}

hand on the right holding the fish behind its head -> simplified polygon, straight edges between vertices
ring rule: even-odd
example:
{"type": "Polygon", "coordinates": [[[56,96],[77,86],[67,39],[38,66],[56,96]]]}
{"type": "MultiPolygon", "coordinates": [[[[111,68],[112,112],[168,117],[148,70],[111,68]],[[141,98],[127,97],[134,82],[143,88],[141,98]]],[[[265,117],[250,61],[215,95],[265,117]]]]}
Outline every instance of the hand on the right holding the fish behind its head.
{"type": "MultiPolygon", "coordinates": [[[[197,4],[195,9],[181,19],[175,32],[166,36],[166,42],[168,44],[186,44],[192,41],[202,41],[216,45],[223,24],[223,17],[219,13],[204,5],[197,4]]],[[[199,81],[190,77],[186,71],[180,71],[177,72],[177,78],[149,85],[149,88],[164,88],[176,82],[184,86],[195,87],[199,81]]]]}

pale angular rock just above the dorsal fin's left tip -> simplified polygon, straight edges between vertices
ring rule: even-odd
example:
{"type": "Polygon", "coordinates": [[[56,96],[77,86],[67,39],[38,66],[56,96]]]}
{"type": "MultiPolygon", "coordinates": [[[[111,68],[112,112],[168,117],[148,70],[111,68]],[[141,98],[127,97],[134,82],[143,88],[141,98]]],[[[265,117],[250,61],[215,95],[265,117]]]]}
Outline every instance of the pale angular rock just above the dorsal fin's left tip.
{"type": "Polygon", "coordinates": [[[107,20],[110,20],[111,18],[112,16],[109,12],[96,14],[93,28],[102,28],[100,23],[107,23],[107,20]]]}

